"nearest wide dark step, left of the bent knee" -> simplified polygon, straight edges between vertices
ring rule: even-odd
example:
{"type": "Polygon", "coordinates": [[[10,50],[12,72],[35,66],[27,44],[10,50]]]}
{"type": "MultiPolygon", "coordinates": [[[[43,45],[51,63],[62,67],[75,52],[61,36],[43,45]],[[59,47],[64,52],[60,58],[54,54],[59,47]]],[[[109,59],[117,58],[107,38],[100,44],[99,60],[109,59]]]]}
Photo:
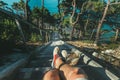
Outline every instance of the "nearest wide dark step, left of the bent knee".
{"type": "Polygon", "coordinates": [[[16,76],[16,80],[42,80],[42,77],[50,67],[22,68],[16,76]]]}

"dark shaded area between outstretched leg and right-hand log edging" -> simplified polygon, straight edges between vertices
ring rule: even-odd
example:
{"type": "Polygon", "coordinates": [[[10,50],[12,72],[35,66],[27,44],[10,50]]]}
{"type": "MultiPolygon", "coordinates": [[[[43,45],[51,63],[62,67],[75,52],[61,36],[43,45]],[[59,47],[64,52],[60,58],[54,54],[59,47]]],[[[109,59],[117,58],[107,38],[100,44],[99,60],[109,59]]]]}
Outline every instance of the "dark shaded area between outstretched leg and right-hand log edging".
{"type": "Polygon", "coordinates": [[[91,59],[88,60],[87,63],[85,64],[83,61],[84,56],[85,55],[80,57],[78,65],[85,71],[89,80],[111,80],[109,76],[106,74],[105,68],[88,65],[92,61],[91,59]]]}

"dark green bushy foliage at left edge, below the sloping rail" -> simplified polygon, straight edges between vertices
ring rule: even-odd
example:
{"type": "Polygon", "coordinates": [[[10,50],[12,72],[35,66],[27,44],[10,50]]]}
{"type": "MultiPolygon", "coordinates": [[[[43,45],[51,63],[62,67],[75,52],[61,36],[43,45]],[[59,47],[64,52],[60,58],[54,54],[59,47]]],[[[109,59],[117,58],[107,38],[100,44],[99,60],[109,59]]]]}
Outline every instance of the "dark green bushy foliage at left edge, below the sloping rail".
{"type": "Polygon", "coordinates": [[[11,51],[21,40],[14,19],[0,13],[0,52],[11,51]]]}

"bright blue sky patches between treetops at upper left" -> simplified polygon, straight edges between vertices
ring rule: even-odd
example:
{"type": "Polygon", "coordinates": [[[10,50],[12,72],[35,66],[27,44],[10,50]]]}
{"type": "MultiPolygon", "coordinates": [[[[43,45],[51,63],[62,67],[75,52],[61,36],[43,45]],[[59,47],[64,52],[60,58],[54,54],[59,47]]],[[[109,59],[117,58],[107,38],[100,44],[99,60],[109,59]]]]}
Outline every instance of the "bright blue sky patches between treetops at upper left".
{"type": "MultiPolygon", "coordinates": [[[[2,1],[4,1],[5,3],[8,4],[9,7],[11,7],[13,2],[19,2],[20,0],[2,0],[2,1]]],[[[30,4],[31,8],[33,8],[35,6],[40,7],[41,6],[41,0],[31,0],[29,4],[30,4]]],[[[57,0],[44,0],[44,6],[46,8],[48,8],[51,13],[58,12],[57,0]]]]}

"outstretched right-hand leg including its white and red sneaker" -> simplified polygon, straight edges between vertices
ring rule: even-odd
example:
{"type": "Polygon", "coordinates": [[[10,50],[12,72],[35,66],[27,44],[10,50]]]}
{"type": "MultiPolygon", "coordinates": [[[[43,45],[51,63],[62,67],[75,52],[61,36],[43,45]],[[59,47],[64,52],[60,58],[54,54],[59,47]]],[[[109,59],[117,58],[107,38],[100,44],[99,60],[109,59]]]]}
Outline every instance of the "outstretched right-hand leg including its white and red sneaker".
{"type": "Polygon", "coordinates": [[[87,76],[81,68],[72,67],[65,64],[62,59],[57,54],[59,51],[58,47],[54,49],[53,52],[53,65],[55,68],[59,69],[64,73],[67,80],[87,80],[87,76]]]}

